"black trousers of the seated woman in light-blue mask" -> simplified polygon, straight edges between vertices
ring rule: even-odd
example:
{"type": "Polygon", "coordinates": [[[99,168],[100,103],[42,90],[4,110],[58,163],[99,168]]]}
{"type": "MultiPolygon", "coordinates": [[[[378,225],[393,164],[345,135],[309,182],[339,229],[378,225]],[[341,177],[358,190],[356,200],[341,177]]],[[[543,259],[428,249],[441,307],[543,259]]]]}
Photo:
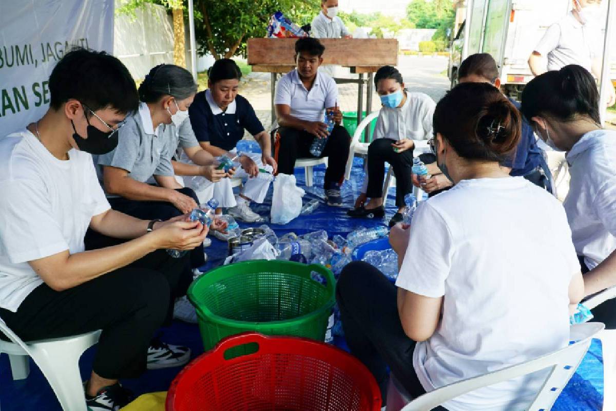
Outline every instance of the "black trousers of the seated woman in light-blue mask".
{"type": "Polygon", "coordinates": [[[367,197],[383,197],[383,179],[385,177],[385,161],[394,168],[395,205],[404,206],[404,196],[413,191],[413,150],[402,153],[394,151],[392,139],[376,139],[368,146],[368,189],[367,197]]]}

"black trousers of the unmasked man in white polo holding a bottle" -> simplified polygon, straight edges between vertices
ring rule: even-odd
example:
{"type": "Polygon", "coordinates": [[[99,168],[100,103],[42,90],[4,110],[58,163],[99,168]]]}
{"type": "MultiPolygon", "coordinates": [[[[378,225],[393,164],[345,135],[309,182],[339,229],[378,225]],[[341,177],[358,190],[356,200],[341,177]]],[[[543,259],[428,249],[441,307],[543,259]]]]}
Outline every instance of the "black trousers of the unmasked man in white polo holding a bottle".
{"type": "MultiPolygon", "coordinates": [[[[301,157],[314,157],[310,145],[316,137],[306,131],[280,127],[272,132],[274,137],[274,159],[278,163],[278,173],[293,174],[295,161],[301,157]]],[[[351,136],[342,126],[334,126],[328,137],[322,157],[328,157],[325,171],[325,188],[330,184],[342,184],[344,169],[349,160],[351,136]]]]}

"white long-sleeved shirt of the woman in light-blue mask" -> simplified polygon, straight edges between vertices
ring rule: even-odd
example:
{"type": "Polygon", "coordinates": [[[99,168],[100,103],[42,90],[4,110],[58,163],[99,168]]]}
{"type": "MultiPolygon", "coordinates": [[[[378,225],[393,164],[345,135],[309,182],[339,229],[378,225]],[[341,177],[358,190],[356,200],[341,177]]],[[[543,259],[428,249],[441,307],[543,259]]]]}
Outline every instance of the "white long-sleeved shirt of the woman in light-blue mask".
{"type": "MultiPolygon", "coordinates": [[[[436,103],[428,94],[405,92],[407,100],[402,107],[381,107],[376,119],[373,140],[411,139],[415,142],[413,155],[429,153],[428,140],[433,137],[432,117],[436,103]]],[[[367,189],[368,173],[365,174],[363,179],[362,193],[365,193],[367,189]]]]}

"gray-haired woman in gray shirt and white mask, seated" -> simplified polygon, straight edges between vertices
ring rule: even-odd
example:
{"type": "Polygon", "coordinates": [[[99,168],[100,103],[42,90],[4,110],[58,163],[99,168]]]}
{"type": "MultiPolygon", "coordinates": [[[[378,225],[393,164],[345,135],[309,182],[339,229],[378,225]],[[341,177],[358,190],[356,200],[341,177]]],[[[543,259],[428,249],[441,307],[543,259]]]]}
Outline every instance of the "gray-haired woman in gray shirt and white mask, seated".
{"type": "MultiPolygon", "coordinates": [[[[137,218],[164,220],[198,207],[195,192],[182,187],[174,178],[171,160],[177,148],[177,126],[184,123],[196,92],[192,75],[172,64],[153,68],[140,84],[139,110],[126,119],[126,126],[119,132],[118,147],[98,158],[103,187],[113,210],[137,218]],[[158,185],[147,183],[152,176],[158,185]]],[[[184,131],[190,132],[190,126],[184,131]]],[[[202,155],[211,158],[206,152],[202,155]]],[[[195,174],[203,169],[202,175],[209,174],[214,180],[221,178],[214,166],[192,167],[195,174]]],[[[216,224],[215,220],[214,229],[219,229],[216,224]]],[[[88,247],[96,247],[106,245],[110,239],[92,235],[88,240],[88,247]]],[[[193,269],[205,264],[202,246],[190,254],[193,269]]],[[[185,281],[192,281],[190,271],[185,281]]]]}

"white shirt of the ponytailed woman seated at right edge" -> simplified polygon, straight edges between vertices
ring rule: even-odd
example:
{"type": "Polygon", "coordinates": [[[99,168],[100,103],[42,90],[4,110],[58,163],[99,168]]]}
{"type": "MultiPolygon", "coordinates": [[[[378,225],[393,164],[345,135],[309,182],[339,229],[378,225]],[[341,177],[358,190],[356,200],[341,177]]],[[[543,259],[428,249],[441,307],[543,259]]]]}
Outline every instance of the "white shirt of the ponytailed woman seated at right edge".
{"type": "Polygon", "coordinates": [[[593,269],[616,249],[616,132],[586,133],[567,153],[564,206],[578,255],[593,269]]]}

